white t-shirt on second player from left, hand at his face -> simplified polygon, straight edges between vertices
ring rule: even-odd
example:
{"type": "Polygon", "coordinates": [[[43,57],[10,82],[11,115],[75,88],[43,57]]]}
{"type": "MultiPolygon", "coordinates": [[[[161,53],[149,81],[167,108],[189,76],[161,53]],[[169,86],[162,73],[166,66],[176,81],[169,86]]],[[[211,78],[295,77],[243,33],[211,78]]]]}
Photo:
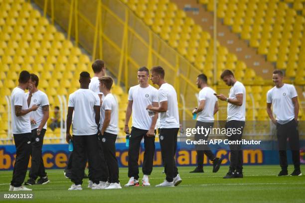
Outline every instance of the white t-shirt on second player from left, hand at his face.
{"type": "MultiPolygon", "coordinates": [[[[26,93],[25,98],[27,100],[29,93],[26,93]]],[[[49,100],[48,100],[48,96],[41,92],[40,90],[38,90],[37,92],[32,94],[31,97],[31,102],[30,102],[30,106],[32,107],[33,105],[39,105],[39,107],[37,108],[36,111],[32,111],[30,112],[30,118],[34,119],[36,121],[36,124],[31,124],[31,129],[36,129],[39,127],[42,118],[43,118],[43,110],[42,110],[42,106],[44,105],[49,105],[49,100]]],[[[47,123],[45,123],[45,125],[42,127],[43,129],[47,128],[47,123]]]]}

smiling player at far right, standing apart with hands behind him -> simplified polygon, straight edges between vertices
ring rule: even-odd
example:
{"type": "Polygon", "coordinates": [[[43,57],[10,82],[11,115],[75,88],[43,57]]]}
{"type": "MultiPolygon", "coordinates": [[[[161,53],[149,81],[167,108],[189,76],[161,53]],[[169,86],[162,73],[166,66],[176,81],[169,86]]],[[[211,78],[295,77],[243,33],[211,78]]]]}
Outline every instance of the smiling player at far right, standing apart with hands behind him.
{"type": "Polygon", "coordinates": [[[300,140],[298,131],[299,102],[298,94],[293,85],[283,83],[283,72],[275,70],[272,75],[275,84],[267,93],[267,112],[272,122],[277,126],[280,166],[282,170],[278,176],[288,175],[286,154],[287,138],[292,151],[295,170],[291,176],[302,176],[300,169],[300,140]],[[273,116],[271,109],[276,118],[273,116]]]}

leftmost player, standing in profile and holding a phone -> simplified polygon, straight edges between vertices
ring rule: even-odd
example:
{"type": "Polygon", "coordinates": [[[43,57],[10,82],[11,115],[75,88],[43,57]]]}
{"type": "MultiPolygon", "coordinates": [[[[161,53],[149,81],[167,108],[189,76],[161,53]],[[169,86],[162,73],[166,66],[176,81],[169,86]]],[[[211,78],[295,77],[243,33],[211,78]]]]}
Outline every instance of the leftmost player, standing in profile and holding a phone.
{"type": "Polygon", "coordinates": [[[31,191],[24,186],[27,165],[31,152],[31,122],[29,112],[37,110],[38,106],[28,108],[24,90],[28,88],[30,74],[21,71],[18,79],[18,87],[11,92],[11,120],[14,143],[16,147],[16,161],[9,191],[31,191]]]}

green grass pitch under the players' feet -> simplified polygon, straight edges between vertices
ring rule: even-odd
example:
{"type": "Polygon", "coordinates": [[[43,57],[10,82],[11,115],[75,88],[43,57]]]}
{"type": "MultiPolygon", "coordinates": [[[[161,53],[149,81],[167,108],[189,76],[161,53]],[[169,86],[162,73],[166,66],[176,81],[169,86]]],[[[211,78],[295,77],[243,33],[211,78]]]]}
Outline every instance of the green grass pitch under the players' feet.
{"type": "MultiPolygon", "coordinates": [[[[29,186],[33,191],[33,201],[39,203],[304,203],[305,175],[299,177],[277,177],[279,166],[245,166],[243,179],[222,179],[228,166],[222,166],[218,173],[212,173],[212,167],[204,167],[205,173],[190,174],[194,167],[179,167],[182,183],[174,188],[156,188],[165,177],[163,168],[153,168],[150,176],[152,187],[124,188],[121,190],[97,190],[87,188],[83,191],[68,191],[70,180],[64,178],[63,170],[48,170],[51,181],[47,185],[29,186]]],[[[305,166],[301,167],[305,172],[305,166]]],[[[289,173],[293,171],[290,166],[289,173]]],[[[0,172],[0,201],[8,192],[12,172],[0,172]]],[[[142,178],[142,174],[140,178],[142,178]]],[[[26,177],[27,178],[27,177],[26,177]]],[[[120,181],[124,186],[128,182],[127,168],[120,168],[120,181]]],[[[23,192],[24,193],[24,192],[23,192]]],[[[18,200],[17,202],[22,202],[18,200]]]]}

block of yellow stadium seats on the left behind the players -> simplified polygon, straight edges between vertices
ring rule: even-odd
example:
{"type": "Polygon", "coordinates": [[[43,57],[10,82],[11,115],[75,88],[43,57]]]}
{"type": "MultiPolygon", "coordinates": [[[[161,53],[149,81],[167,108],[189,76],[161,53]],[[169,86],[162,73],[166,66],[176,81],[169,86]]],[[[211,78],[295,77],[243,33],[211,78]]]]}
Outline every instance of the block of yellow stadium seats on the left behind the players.
{"type": "MultiPolygon", "coordinates": [[[[21,70],[39,76],[38,88],[48,95],[50,111],[60,104],[57,95],[68,99],[69,94],[77,90],[81,71],[88,71],[93,76],[90,58],[25,0],[0,1],[0,57],[1,123],[7,123],[8,120],[5,96],[9,96],[18,84],[21,70]]],[[[115,86],[112,91],[118,101],[124,101],[120,97],[127,97],[119,86],[115,86]]],[[[126,105],[121,102],[119,105],[120,109],[124,109],[120,110],[120,129],[123,134],[124,122],[121,120],[126,105]]],[[[7,128],[7,124],[0,125],[0,138],[7,138],[7,128]]],[[[60,130],[47,130],[45,143],[59,142],[60,130]]]]}

